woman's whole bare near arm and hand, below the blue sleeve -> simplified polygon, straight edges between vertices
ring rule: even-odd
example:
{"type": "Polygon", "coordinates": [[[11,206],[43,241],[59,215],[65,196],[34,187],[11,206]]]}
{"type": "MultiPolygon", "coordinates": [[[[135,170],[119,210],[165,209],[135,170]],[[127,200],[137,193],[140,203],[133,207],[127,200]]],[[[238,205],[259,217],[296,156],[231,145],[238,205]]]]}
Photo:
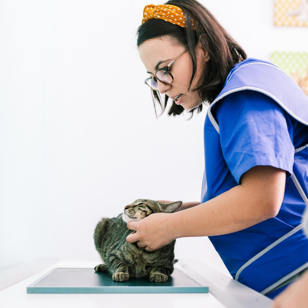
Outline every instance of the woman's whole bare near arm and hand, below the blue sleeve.
{"type": "Polygon", "coordinates": [[[237,185],[221,195],[176,213],[156,213],[128,223],[136,233],[129,243],[153,251],[179,237],[221,235],[240,231],[277,215],[286,182],[286,172],[271,166],[256,166],[245,172],[237,185]]]}

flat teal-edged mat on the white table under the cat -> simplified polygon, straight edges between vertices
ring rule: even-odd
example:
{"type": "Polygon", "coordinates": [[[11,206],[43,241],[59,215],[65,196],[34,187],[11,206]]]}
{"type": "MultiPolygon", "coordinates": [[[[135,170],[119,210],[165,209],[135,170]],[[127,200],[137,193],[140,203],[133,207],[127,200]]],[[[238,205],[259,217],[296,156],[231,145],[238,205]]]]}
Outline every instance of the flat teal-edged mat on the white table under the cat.
{"type": "Polygon", "coordinates": [[[90,268],[54,268],[27,286],[27,293],[207,293],[201,285],[179,269],[166,282],[130,278],[114,282],[112,274],[96,273],[90,268]]]}

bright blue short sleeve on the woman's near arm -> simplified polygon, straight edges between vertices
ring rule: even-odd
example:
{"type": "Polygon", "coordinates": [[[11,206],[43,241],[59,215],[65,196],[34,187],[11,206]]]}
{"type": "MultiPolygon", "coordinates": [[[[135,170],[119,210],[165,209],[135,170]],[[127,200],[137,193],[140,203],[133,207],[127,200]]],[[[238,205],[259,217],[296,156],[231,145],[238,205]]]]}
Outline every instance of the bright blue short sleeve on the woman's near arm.
{"type": "Polygon", "coordinates": [[[238,91],[216,103],[221,148],[233,177],[258,166],[273,166],[292,174],[292,125],[273,99],[257,91],[238,91]]]}

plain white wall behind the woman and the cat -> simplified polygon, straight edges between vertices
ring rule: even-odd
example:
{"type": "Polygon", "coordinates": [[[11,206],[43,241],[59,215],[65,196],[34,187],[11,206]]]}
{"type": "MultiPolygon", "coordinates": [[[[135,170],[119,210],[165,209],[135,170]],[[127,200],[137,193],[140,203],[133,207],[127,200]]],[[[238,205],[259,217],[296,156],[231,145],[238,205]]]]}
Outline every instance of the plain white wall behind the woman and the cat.
{"type": "MultiPolygon", "coordinates": [[[[273,26],[274,1],[201,2],[251,57],[308,50],[308,28],[273,26]]],[[[101,217],[137,198],[200,199],[205,112],[156,120],[136,48],[149,3],[0,2],[0,270],[99,260],[101,217]]],[[[225,270],[207,238],[175,250],[225,270]]]]}

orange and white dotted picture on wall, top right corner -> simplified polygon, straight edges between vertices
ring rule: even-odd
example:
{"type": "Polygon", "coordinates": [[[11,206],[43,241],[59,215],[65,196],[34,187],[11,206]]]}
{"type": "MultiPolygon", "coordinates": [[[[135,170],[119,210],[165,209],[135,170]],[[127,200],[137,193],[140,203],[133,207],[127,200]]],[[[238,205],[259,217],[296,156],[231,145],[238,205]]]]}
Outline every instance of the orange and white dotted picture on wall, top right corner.
{"type": "Polygon", "coordinates": [[[275,26],[308,26],[308,0],[275,0],[275,26]]]}

